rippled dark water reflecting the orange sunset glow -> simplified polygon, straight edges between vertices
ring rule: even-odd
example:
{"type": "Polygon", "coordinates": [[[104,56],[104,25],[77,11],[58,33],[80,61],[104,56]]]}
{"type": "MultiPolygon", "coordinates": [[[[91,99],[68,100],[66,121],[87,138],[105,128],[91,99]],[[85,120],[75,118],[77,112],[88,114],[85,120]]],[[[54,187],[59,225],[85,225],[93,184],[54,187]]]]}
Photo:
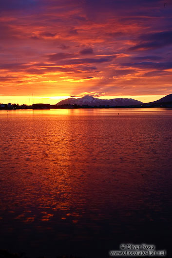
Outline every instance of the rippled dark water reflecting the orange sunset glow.
{"type": "Polygon", "coordinates": [[[170,254],[171,232],[172,110],[0,111],[0,249],[170,254]]]}

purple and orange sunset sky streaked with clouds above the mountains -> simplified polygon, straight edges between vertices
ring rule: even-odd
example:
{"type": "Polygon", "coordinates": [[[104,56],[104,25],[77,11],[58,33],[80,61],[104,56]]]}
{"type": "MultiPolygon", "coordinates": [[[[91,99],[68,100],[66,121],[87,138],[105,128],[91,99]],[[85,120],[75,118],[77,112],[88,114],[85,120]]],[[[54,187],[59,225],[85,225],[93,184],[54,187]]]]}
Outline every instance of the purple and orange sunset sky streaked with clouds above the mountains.
{"type": "Polygon", "coordinates": [[[172,93],[172,0],[0,1],[0,103],[172,93]]]}

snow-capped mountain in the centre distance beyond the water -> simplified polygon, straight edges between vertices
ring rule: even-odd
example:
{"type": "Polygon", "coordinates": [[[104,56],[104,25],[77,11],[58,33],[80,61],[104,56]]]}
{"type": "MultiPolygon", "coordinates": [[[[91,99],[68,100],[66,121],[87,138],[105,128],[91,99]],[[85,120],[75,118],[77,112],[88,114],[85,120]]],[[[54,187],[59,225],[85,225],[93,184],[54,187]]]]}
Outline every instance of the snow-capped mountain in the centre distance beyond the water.
{"type": "Polygon", "coordinates": [[[143,102],[134,100],[132,98],[114,98],[114,99],[99,99],[92,97],[90,95],[86,95],[81,98],[67,98],[64,100],[61,100],[57,103],[57,105],[88,105],[88,106],[130,106],[130,105],[139,105],[143,104],[143,102]]]}

